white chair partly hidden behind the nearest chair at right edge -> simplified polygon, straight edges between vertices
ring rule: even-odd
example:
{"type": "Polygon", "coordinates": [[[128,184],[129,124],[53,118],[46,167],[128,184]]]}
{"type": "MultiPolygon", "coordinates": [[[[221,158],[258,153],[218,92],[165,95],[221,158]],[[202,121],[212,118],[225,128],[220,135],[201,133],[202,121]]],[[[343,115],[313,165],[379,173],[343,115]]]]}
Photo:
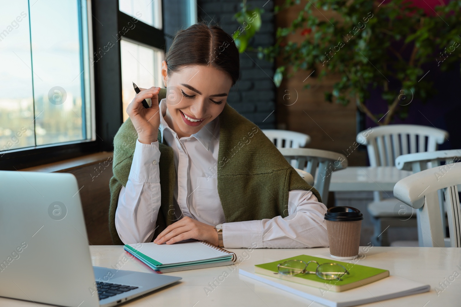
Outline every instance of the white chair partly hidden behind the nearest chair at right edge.
{"type": "MultiPolygon", "coordinates": [[[[449,170],[449,165],[452,163],[461,161],[461,149],[453,149],[446,151],[431,151],[431,152],[417,152],[414,154],[407,154],[398,156],[396,158],[396,167],[402,170],[413,170],[414,173],[423,171],[427,168],[438,167],[439,172],[435,174],[436,178],[442,177],[445,172],[449,170]],[[444,165],[441,165],[444,162],[444,165]]],[[[442,228],[445,229],[445,213],[446,208],[443,201],[443,193],[441,190],[438,191],[439,205],[442,228]]],[[[417,214],[418,219],[418,245],[423,246],[422,232],[420,227],[420,216],[417,214]]],[[[445,246],[449,245],[449,240],[445,238],[445,246]]]]}

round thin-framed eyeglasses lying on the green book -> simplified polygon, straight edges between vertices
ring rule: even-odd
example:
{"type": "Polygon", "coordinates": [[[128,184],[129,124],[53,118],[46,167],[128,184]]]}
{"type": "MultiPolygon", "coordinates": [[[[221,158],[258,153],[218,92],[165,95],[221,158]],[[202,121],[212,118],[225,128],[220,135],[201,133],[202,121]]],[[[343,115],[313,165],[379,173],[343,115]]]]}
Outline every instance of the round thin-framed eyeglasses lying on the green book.
{"type": "MultiPolygon", "coordinates": [[[[326,262],[319,264],[317,261],[305,262],[302,260],[289,260],[277,265],[278,272],[283,275],[297,275],[297,274],[316,274],[319,278],[322,279],[337,279],[341,280],[346,274],[349,274],[349,271],[342,265],[337,263],[326,262]],[[307,271],[307,266],[309,263],[316,263],[317,269],[315,272],[307,271]]],[[[277,274],[277,273],[276,273],[277,274]]]]}

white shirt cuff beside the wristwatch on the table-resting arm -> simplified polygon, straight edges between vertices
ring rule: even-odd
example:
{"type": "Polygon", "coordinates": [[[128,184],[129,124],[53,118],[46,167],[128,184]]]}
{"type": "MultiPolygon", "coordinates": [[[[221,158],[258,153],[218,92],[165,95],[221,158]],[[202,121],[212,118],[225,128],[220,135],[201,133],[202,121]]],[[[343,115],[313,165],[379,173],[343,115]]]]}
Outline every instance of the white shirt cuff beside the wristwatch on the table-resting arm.
{"type": "Polygon", "coordinates": [[[223,244],[228,249],[262,248],[261,221],[223,223],[223,244]]]}

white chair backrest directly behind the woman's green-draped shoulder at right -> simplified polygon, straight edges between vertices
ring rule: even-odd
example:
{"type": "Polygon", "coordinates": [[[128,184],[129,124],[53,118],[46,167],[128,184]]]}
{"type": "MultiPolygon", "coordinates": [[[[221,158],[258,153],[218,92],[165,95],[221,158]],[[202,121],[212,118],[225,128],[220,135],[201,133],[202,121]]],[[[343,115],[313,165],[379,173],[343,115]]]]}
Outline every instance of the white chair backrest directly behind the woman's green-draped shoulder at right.
{"type": "Polygon", "coordinates": [[[322,202],[328,200],[331,172],[347,168],[346,156],[334,151],[311,148],[279,148],[291,166],[314,176],[313,187],[319,191],[322,202]]]}

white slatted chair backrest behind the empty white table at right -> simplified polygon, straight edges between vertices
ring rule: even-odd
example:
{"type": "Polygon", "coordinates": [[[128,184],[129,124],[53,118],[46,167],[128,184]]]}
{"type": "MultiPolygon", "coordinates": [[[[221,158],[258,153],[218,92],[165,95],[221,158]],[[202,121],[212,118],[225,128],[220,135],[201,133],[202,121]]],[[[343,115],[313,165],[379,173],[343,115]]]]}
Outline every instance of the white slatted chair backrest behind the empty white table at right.
{"type": "Polygon", "coordinates": [[[397,156],[436,151],[448,136],[447,131],[434,127],[385,125],[361,131],[356,140],[366,145],[371,166],[394,166],[397,156]]]}

